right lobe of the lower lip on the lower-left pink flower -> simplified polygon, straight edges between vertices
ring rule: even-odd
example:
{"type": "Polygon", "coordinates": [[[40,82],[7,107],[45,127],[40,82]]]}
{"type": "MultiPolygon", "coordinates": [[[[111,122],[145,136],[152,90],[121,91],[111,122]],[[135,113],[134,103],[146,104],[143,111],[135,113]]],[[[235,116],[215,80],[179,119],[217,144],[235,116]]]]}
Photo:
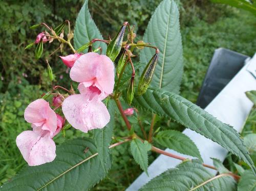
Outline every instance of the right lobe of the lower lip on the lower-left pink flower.
{"type": "Polygon", "coordinates": [[[55,150],[55,143],[49,136],[41,137],[31,149],[27,162],[30,166],[51,162],[56,157],[55,150]]]}

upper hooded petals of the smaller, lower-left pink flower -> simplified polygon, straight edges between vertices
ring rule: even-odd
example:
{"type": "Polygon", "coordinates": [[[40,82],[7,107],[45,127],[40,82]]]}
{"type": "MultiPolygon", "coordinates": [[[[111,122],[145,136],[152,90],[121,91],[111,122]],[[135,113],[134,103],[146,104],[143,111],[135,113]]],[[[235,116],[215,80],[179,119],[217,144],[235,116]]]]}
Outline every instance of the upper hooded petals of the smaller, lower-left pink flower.
{"type": "Polygon", "coordinates": [[[24,118],[32,128],[48,130],[51,135],[57,129],[57,116],[44,99],[38,99],[25,109],[24,118]]]}

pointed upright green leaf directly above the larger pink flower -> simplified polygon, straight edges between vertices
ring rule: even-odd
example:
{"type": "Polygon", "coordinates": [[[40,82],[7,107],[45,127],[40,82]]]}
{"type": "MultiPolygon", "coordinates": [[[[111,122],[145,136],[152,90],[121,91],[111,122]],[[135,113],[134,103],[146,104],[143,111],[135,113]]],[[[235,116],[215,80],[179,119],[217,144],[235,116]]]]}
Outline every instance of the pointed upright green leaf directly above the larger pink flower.
{"type": "MultiPolygon", "coordinates": [[[[88,9],[88,0],[86,0],[76,18],[74,31],[75,49],[79,49],[79,47],[94,38],[102,39],[102,35],[91,17],[88,9]]],[[[105,54],[106,44],[99,41],[93,43],[93,49],[97,49],[99,46],[102,48],[102,54],[105,54]]],[[[87,53],[87,50],[84,50],[83,53],[87,53]]]]}

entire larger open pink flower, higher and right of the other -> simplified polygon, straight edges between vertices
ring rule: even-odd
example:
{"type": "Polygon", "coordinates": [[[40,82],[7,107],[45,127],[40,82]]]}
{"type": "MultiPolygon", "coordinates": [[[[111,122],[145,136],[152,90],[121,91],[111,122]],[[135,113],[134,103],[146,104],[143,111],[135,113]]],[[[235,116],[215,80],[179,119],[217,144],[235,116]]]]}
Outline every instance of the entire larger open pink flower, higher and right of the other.
{"type": "Polygon", "coordinates": [[[88,132],[103,128],[110,114],[101,102],[114,88],[114,64],[109,57],[97,53],[82,55],[71,68],[70,77],[80,82],[80,94],[66,98],[62,112],[76,129],[88,132]]]}

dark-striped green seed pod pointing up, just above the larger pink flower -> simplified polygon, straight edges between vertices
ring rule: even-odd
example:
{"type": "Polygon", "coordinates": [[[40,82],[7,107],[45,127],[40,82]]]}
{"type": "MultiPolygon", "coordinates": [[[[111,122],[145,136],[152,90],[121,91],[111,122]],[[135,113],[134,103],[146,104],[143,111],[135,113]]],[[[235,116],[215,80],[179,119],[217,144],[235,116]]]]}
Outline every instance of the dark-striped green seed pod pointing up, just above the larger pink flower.
{"type": "Polygon", "coordinates": [[[121,51],[122,42],[123,42],[123,36],[125,32],[125,27],[128,22],[124,22],[123,26],[119,30],[118,34],[115,36],[115,38],[109,43],[107,49],[106,49],[106,56],[110,57],[110,59],[114,62],[116,57],[121,51]]]}

